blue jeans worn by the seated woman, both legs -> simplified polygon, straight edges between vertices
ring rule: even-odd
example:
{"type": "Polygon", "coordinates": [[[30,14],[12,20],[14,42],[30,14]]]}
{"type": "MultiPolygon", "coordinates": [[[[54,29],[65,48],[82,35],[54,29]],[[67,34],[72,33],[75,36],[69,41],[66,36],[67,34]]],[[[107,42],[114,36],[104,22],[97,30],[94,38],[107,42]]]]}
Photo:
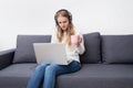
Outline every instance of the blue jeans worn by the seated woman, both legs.
{"type": "Polygon", "coordinates": [[[55,77],[80,70],[81,64],[73,61],[69,65],[41,64],[34,69],[27,88],[54,88],[55,77]]]}

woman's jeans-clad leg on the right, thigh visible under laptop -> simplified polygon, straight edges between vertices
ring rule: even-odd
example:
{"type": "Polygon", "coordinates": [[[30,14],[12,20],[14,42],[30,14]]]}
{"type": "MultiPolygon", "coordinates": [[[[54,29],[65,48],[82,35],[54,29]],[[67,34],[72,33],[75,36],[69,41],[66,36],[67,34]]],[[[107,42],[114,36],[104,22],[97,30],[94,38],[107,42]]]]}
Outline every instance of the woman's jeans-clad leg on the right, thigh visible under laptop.
{"type": "Polygon", "coordinates": [[[74,72],[78,72],[80,68],[81,68],[80,63],[75,61],[73,61],[69,65],[51,64],[50,66],[45,68],[43,87],[54,88],[57,76],[62,75],[62,74],[74,73],[74,72]]]}

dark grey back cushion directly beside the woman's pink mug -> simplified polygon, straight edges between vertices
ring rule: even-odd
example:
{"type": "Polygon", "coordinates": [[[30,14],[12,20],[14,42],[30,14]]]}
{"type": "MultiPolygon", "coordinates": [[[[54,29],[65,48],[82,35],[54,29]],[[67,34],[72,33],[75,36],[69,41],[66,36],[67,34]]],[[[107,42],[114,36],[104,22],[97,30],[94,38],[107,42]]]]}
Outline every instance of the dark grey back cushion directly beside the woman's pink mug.
{"type": "Polygon", "coordinates": [[[81,55],[81,63],[99,63],[101,61],[100,33],[83,34],[85,52],[81,55]]]}

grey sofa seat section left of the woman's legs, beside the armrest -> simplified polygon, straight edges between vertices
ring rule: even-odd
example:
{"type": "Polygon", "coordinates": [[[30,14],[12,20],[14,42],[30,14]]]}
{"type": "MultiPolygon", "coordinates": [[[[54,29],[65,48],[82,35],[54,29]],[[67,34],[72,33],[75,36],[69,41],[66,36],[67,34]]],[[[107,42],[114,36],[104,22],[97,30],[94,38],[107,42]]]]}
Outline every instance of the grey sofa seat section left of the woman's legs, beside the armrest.
{"type": "Polygon", "coordinates": [[[0,70],[0,88],[27,88],[37,64],[13,64],[0,70]]]}

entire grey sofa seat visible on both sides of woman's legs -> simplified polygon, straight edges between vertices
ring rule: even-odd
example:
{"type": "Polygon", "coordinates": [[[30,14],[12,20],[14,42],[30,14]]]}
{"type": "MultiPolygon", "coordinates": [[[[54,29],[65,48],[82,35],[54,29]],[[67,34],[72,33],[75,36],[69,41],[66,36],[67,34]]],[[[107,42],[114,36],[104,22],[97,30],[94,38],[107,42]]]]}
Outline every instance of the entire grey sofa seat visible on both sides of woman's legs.
{"type": "MultiPolygon", "coordinates": [[[[1,88],[27,88],[37,64],[13,64],[0,70],[1,88]]],[[[55,88],[133,88],[133,65],[83,64],[57,77],[55,88]]]]}

